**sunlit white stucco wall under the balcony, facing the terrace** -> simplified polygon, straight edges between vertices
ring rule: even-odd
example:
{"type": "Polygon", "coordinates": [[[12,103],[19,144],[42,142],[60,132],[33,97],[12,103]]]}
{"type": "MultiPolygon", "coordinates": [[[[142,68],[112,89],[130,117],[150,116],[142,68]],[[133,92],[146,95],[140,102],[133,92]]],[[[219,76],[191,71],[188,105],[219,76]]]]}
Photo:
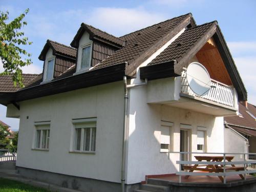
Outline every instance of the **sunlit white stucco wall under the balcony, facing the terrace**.
{"type": "MultiPolygon", "coordinates": [[[[167,79],[167,78],[166,78],[167,79]]],[[[139,80],[132,80],[132,83],[139,80]]],[[[154,83],[151,83],[154,84],[154,83]]],[[[149,84],[150,85],[150,84],[149,84]]],[[[150,88],[153,93],[154,88],[150,88]]],[[[197,128],[206,127],[207,152],[224,152],[223,118],[189,110],[173,108],[165,104],[147,104],[147,86],[130,90],[129,144],[127,159],[127,183],[145,180],[145,175],[175,173],[179,155],[160,153],[161,120],[173,122],[170,148],[180,151],[180,124],[191,125],[191,151],[197,152],[197,128]]],[[[156,93],[159,93],[155,89],[156,93]]],[[[162,92],[160,92],[162,93],[162,92]]]]}

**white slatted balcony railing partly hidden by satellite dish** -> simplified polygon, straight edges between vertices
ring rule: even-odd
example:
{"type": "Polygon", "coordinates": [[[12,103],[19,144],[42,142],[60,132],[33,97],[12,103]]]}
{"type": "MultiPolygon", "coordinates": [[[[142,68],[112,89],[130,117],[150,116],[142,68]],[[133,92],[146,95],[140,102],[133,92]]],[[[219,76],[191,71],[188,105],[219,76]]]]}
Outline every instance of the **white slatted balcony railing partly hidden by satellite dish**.
{"type": "Polygon", "coordinates": [[[186,68],[183,68],[184,71],[181,73],[181,93],[204,98],[210,101],[214,101],[220,104],[224,104],[227,106],[234,105],[234,93],[233,88],[227,86],[224,83],[211,79],[211,89],[207,93],[207,95],[201,96],[195,94],[188,86],[187,78],[186,78],[186,68]]]}

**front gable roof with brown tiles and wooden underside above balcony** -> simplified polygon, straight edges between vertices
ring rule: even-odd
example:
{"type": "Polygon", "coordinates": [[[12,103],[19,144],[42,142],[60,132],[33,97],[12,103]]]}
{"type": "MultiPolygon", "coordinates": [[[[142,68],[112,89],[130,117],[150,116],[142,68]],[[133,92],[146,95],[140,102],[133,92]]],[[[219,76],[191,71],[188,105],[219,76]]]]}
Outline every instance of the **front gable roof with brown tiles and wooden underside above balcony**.
{"type": "MultiPolygon", "coordinates": [[[[170,46],[150,62],[148,67],[141,68],[141,78],[144,79],[149,74],[152,75],[150,71],[158,73],[157,69],[161,69],[164,77],[179,76],[183,68],[187,68],[189,61],[195,55],[199,57],[199,61],[204,61],[204,65],[209,71],[212,71],[210,72],[212,77],[227,84],[232,84],[238,92],[239,100],[247,100],[247,92],[243,81],[216,21],[185,30],[170,46]],[[211,38],[214,41],[210,40],[211,38]],[[213,45],[215,45],[215,49],[212,49],[213,45]],[[197,53],[199,54],[197,55],[197,53]],[[216,62],[218,62],[217,66],[216,62]],[[169,65],[166,65],[166,63],[169,63],[169,65]],[[162,67],[155,67],[157,65],[162,67]],[[169,73],[167,68],[172,69],[172,73],[169,73]],[[169,74],[165,74],[164,71],[169,74]]],[[[159,78],[159,75],[157,78],[159,78]]]]}

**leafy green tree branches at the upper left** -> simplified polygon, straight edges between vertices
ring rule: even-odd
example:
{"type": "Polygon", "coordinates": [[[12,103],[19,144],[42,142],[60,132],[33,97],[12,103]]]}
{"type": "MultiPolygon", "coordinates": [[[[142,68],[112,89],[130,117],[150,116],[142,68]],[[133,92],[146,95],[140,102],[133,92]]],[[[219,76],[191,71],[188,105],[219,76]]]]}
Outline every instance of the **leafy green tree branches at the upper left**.
{"type": "Polygon", "coordinates": [[[27,25],[23,19],[28,12],[29,9],[26,9],[24,13],[7,23],[9,12],[0,11],[0,59],[5,69],[0,75],[11,74],[15,87],[16,83],[24,87],[21,67],[32,63],[31,54],[21,48],[32,44],[28,37],[24,37],[24,32],[20,31],[27,25]]]}

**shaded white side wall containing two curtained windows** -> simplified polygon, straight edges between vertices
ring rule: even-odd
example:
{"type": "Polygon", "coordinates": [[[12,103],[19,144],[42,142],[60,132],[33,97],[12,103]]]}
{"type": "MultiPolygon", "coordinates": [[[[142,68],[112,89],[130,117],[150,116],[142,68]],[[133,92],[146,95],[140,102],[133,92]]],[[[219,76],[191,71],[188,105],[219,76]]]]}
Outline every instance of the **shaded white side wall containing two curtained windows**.
{"type": "Polygon", "coordinates": [[[120,182],[122,127],[121,81],[20,102],[16,165],[120,182]],[[97,117],[96,153],[69,153],[72,119],[90,117],[97,117]],[[34,122],[49,120],[49,151],[31,150],[34,122]]]}

